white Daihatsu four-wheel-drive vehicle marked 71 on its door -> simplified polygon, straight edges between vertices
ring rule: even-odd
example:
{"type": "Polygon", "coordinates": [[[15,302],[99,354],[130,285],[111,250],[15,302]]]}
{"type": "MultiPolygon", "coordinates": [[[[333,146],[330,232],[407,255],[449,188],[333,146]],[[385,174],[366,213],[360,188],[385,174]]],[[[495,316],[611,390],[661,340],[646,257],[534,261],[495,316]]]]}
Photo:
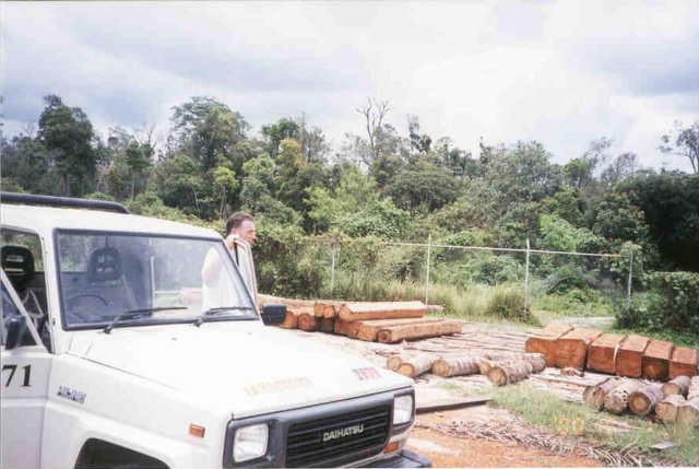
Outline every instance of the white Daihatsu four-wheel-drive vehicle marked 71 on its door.
{"type": "Polygon", "coordinates": [[[404,448],[412,380],[268,327],[284,307],[216,232],[0,202],[3,469],[429,466],[404,448]]]}

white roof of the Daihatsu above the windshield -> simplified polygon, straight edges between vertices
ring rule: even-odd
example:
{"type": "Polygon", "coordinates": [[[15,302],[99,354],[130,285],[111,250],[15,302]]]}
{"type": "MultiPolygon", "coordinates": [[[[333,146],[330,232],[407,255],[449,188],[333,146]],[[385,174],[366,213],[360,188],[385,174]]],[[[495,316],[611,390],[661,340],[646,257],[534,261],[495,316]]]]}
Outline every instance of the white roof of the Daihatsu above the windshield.
{"type": "Polygon", "coordinates": [[[102,210],[58,209],[52,207],[0,203],[2,225],[32,230],[50,236],[55,228],[149,233],[221,239],[213,230],[169,220],[114,213],[102,210]]]}

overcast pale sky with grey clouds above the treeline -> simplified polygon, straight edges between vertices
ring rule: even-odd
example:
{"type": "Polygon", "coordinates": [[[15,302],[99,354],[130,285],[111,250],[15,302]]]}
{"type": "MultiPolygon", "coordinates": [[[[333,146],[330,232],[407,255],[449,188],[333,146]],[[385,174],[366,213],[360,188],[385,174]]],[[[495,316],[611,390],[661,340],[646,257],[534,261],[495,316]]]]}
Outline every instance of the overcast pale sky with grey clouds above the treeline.
{"type": "Polygon", "coordinates": [[[106,136],[167,129],[171,107],[213,96],[264,124],[306,113],[331,141],[362,132],[355,108],[390,102],[406,134],[477,154],[537,140],[565,162],[591,140],[662,155],[676,120],[699,120],[699,1],[8,2],[0,5],[5,136],[42,96],[80,106],[106,136]]]}

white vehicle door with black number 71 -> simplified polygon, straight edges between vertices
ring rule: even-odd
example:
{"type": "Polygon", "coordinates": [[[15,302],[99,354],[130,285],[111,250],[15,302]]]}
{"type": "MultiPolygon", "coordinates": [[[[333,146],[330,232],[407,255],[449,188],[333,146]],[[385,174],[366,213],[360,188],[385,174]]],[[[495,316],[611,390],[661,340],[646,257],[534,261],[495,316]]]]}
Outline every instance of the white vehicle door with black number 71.
{"type": "Polygon", "coordinates": [[[39,468],[42,427],[47,401],[51,354],[42,344],[34,324],[4,271],[2,277],[2,324],[0,325],[0,467],[39,468]],[[23,333],[8,343],[10,323],[23,323],[23,333]],[[11,349],[8,350],[9,345],[11,349]]]}

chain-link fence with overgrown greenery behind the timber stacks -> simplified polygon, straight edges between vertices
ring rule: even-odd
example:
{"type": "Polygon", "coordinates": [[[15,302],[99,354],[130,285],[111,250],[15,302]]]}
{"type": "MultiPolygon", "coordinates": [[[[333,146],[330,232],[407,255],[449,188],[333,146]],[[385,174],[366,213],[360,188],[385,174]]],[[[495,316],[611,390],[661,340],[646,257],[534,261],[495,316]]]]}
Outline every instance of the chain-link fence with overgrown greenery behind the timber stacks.
{"type": "Polygon", "coordinates": [[[288,247],[291,256],[275,253],[287,259],[284,265],[258,273],[272,274],[262,291],[266,282],[275,293],[296,296],[422,300],[460,316],[511,317],[532,307],[595,316],[628,308],[632,257],[533,249],[529,239],[523,245],[304,238],[288,247]]]}

